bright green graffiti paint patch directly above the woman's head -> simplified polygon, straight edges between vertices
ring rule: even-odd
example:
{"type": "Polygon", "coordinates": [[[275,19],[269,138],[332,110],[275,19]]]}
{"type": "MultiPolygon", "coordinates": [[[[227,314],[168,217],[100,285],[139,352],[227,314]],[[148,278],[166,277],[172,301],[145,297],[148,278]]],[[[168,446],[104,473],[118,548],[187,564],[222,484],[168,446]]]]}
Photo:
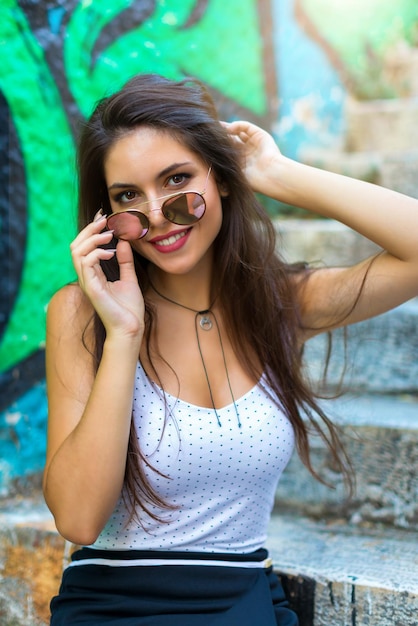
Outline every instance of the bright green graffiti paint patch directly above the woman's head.
{"type": "Polygon", "coordinates": [[[155,2],[152,15],[115,36],[92,62],[101,30],[130,6],[127,0],[81,2],[67,27],[68,84],[84,115],[94,103],[137,72],[170,78],[196,76],[256,115],[267,110],[263,41],[257,0],[211,0],[191,26],[185,26],[196,0],[155,2]]]}

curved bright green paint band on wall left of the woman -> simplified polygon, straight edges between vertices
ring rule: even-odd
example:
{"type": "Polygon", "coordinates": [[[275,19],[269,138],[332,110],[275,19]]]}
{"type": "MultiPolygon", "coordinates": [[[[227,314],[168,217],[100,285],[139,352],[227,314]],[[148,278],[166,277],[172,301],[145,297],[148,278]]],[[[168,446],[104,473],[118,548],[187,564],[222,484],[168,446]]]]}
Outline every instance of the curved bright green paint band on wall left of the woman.
{"type": "Polygon", "coordinates": [[[0,371],[5,371],[42,346],[47,303],[73,277],[68,244],[75,232],[75,185],[73,140],[59,94],[42,48],[11,0],[0,7],[0,64],[0,88],[19,136],[28,197],[24,270],[0,346],[0,371]]]}

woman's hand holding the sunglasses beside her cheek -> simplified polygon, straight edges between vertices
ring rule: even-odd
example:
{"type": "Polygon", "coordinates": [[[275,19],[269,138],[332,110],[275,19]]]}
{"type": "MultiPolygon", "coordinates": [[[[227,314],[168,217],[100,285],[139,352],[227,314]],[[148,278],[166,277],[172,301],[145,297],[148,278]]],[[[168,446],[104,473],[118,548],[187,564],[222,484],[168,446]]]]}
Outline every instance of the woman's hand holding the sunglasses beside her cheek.
{"type": "Polygon", "coordinates": [[[114,249],[101,248],[112,240],[112,231],[103,230],[106,218],[100,213],[74,239],[70,248],[81,289],[100,316],[107,336],[142,337],[144,328],[144,301],[135,272],[130,244],[119,241],[114,249]],[[120,279],[106,278],[100,261],[111,259],[116,253],[120,279]]]}

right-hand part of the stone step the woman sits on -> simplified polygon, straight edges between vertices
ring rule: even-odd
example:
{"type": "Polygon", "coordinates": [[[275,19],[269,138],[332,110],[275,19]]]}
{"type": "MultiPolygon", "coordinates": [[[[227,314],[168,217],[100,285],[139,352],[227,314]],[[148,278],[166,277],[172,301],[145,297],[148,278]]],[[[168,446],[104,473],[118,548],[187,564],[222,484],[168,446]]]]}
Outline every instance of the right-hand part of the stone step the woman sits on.
{"type": "Polygon", "coordinates": [[[268,548],[300,626],[417,626],[418,533],[274,515],[268,548]]]}

